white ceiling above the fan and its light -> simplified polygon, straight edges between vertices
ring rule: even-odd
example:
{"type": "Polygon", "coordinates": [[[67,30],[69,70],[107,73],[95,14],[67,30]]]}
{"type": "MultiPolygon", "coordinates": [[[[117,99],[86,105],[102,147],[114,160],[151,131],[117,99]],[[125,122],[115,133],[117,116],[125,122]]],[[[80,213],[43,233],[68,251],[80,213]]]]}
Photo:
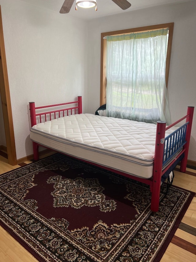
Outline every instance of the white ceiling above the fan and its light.
{"type": "MultiPolygon", "coordinates": [[[[32,5],[40,6],[42,8],[46,8],[58,13],[64,2],[64,0],[21,0],[21,1],[28,2],[32,5]]],[[[138,10],[138,9],[152,7],[152,6],[160,6],[160,5],[172,4],[172,3],[188,2],[190,0],[128,0],[128,2],[131,3],[131,7],[128,8],[127,10],[122,10],[111,0],[96,0],[96,1],[97,1],[97,11],[95,11],[94,8],[90,8],[90,9],[78,8],[76,11],[75,2],[74,2],[68,14],[59,13],[59,15],[72,16],[72,17],[89,20],[89,19],[99,18],[112,14],[129,12],[131,10],[138,10]]]]}

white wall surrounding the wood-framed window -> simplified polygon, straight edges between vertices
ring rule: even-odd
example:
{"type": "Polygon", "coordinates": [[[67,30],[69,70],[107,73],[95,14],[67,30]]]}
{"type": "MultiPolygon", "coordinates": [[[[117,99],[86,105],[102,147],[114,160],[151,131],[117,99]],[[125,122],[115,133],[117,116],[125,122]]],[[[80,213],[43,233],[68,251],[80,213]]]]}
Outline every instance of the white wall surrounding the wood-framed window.
{"type": "MultiPolygon", "coordinates": [[[[88,111],[100,106],[101,33],[174,22],[168,82],[172,121],[196,106],[196,1],[164,5],[94,19],[88,23],[88,111]]],[[[188,159],[196,161],[196,108],[188,159]]]]}

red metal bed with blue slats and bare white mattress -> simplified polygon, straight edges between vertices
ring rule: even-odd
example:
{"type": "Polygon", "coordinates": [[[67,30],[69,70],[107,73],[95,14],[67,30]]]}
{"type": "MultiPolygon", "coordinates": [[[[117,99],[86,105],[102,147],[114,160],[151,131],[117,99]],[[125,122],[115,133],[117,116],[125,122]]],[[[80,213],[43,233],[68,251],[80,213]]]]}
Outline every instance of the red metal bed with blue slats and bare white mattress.
{"type": "Polygon", "coordinates": [[[29,102],[29,109],[34,160],[39,146],[46,147],[148,184],[153,212],[159,210],[161,177],[179,161],[186,171],[194,107],[170,126],[83,114],[81,96],[41,107],[29,102]]]}

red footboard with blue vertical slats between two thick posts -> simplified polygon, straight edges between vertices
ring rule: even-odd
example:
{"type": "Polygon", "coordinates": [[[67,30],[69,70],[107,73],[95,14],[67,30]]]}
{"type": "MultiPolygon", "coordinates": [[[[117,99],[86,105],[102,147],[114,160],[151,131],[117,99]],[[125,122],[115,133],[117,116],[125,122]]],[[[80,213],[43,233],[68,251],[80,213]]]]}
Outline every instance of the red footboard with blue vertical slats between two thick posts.
{"type": "Polygon", "coordinates": [[[187,108],[187,115],[166,127],[166,122],[157,122],[153,180],[151,185],[151,210],[159,209],[161,176],[184,153],[180,171],[185,172],[187,166],[190,133],[193,122],[194,107],[187,108]],[[186,119],[186,123],[165,138],[165,131],[186,119]]]}

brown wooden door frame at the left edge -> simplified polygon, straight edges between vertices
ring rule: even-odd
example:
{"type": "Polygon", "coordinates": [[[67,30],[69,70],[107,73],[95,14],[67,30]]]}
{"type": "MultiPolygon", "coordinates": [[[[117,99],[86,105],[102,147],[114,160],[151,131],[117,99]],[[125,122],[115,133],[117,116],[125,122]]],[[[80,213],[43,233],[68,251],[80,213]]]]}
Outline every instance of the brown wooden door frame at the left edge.
{"type": "Polygon", "coordinates": [[[1,70],[3,71],[3,81],[2,84],[0,85],[0,93],[1,93],[1,100],[2,100],[3,120],[4,120],[5,133],[6,133],[8,163],[12,166],[15,166],[17,165],[16,146],[15,146],[15,139],[14,139],[12,108],[11,108],[11,100],[10,100],[10,93],[9,93],[9,81],[8,81],[6,52],[5,52],[4,37],[3,37],[1,6],[0,6],[0,52],[1,52],[0,66],[1,66],[1,70]]]}

